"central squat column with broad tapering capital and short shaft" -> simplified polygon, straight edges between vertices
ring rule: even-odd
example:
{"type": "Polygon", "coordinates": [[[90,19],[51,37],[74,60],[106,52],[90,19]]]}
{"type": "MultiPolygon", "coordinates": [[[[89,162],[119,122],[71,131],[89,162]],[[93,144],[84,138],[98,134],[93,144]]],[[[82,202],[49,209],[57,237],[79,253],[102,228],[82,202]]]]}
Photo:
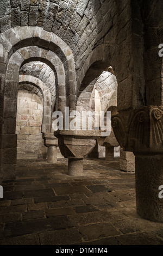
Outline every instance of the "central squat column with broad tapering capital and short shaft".
{"type": "Polygon", "coordinates": [[[83,175],[83,159],[96,145],[99,131],[56,131],[61,154],[68,158],[68,175],[83,175]],[[85,133],[87,135],[85,135],[85,133]]]}

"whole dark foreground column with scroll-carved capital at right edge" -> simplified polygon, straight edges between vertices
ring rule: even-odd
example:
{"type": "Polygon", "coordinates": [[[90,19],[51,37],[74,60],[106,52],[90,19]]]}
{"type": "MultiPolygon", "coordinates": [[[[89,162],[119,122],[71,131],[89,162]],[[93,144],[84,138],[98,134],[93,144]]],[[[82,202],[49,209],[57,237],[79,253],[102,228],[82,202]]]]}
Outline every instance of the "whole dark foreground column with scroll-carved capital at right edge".
{"type": "Polygon", "coordinates": [[[123,111],[112,117],[112,127],[121,147],[135,155],[137,214],[163,222],[163,107],[123,111]]]}

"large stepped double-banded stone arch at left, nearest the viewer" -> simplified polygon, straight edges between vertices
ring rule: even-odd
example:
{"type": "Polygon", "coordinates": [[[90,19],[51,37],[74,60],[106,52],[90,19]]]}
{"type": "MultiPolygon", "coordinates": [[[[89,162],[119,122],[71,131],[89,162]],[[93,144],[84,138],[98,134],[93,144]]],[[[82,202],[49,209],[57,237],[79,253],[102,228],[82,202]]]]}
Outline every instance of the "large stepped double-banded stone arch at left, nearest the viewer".
{"type": "MultiPolygon", "coordinates": [[[[55,74],[55,82],[58,89],[59,110],[64,109],[70,98],[76,97],[75,92],[70,95],[71,87],[76,88],[76,72],[74,69],[74,60],[72,51],[67,44],[59,38],[59,36],[43,31],[37,27],[15,27],[1,34],[1,42],[3,43],[1,65],[1,92],[2,115],[3,119],[3,140],[10,140],[12,137],[12,145],[10,148],[3,147],[2,169],[3,177],[15,176],[16,163],[16,106],[17,106],[17,90],[18,77],[20,68],[34,61],[45,62],[55,74]],[[59,83],[58,83],[59,81],[59,83]],[[3,96],[4,95],[4,96],[3,96]],[[10,128],[9,128],[10,127],[10,128]],[[9,163],[10,159],[10,163],[9,163]]],[[[43,119],[43,130],[49,130],[51,115],[46,115],[43,119]],[[45,121],[46,120],[46,121],[45,121]]]]}

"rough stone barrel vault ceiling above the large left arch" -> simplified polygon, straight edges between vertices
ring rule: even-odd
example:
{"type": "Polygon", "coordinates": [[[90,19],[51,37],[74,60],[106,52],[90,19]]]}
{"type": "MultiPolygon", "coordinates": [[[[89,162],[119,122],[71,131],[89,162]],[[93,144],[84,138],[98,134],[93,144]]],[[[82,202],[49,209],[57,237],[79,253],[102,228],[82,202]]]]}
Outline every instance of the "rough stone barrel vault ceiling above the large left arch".
{"type": "Polygon", "coordinates": [[[1,0],[0,7],[1,33],[16,26],[43,27],[71,47],[77,69],[105,41],[117,10],[110,0],[1,0]]]}

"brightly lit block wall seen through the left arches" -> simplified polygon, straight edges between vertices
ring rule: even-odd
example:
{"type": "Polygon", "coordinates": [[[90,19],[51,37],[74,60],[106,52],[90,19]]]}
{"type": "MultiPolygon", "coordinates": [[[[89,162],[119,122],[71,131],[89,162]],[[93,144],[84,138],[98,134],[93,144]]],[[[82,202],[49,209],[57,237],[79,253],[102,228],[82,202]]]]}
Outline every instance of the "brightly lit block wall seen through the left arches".
{"type": "Polygon", "coordinates": [[[17,99],[17,159],[37,159],[46,152],[41,124],[43,98],[27,90],[18,91],[17,99]]]}

